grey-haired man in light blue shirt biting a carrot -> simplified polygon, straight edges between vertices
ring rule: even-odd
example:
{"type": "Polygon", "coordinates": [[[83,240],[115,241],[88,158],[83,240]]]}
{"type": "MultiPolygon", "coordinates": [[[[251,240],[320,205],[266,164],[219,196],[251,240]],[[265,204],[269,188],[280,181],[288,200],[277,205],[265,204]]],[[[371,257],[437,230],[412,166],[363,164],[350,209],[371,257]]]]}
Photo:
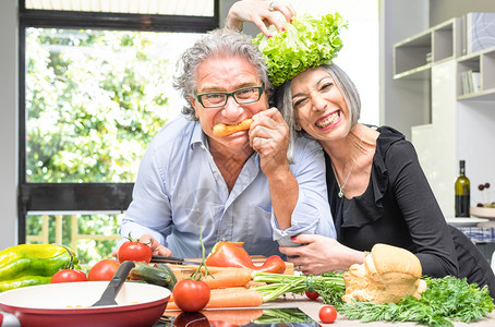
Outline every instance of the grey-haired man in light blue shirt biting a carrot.
{"type": "Polygon", "coordinates": [[[208,33],[180,58],[174,86],[186,106],[143,157],[122,237],[180,257],[201,257],[200,234],[208,252],[225,240],[261,255],[300,233],[335,237],[323,152],[297,138],[289,162],[288,125],[268,106],[271,84],[250,37],[208,33]]]}

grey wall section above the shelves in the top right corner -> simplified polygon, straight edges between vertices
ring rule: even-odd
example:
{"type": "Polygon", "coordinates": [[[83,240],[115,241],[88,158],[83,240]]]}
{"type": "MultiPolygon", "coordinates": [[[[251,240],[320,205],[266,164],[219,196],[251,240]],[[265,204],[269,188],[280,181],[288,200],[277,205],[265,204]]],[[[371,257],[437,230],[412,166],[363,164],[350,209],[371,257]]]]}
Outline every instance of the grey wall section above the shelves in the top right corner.
{"type": "Polygon", "coordinates": [[[468,12],[495,12],[494,0],[431,0],[430,26],[451,17],[461,17],[468,12]]]}

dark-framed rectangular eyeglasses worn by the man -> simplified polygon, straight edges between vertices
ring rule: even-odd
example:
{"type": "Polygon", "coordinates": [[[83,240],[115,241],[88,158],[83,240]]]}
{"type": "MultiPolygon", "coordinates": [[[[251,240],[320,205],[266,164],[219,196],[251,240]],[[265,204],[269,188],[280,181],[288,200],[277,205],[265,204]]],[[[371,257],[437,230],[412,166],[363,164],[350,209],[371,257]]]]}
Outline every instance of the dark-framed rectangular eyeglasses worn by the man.
{"type": "Polygon", "coordinates": [[[236,102],[239,105],[247,105],[253,104],[259,100],[263,94],[263,88],[265,84],[262,86],[253,86],[253,87],[245,87],[241,89],[237,89],[234,92],[213,92],[213,93],[203,93],[196,95],[197,101],[205,108],[220,108],[227,105],[227,100],[229,97],[232,97],[236,102]]]}

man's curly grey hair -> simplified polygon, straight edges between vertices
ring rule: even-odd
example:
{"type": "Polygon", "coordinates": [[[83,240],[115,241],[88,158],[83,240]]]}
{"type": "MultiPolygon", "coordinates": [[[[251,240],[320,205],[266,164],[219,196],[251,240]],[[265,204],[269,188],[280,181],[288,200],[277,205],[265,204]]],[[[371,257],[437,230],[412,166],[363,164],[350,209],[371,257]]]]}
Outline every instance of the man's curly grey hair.
{"type": "Polygon", "coordinates": [[[259,80],[265,85],[265,92],[271,88],[268,81],[268,71],[262,53],[253,45],[252,38],[238,31],[227,27],[216,28],[201,37],[194,46],[185,50],[177,63],[177,74],[173,77],[173,87],[184,98],[186,105],[182,113],[190,120],[197,120],[190,97],[195,97],[197,88],[197,68],[209,58],[242,57],[247,59],[257,71],[259,80]]]}

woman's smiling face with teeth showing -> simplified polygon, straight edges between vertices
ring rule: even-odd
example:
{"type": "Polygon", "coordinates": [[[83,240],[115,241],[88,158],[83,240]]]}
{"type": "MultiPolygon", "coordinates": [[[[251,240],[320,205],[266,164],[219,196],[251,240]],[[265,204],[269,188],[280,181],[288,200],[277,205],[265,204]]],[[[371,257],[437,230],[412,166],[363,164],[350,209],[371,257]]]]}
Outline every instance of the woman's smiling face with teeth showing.
{"type": "Polygon", "coordinates": [[[321,141],[346,135],[349,110],[342,94],[324,69],[300,73],[291,86],[298,129],[321,141]]]}

